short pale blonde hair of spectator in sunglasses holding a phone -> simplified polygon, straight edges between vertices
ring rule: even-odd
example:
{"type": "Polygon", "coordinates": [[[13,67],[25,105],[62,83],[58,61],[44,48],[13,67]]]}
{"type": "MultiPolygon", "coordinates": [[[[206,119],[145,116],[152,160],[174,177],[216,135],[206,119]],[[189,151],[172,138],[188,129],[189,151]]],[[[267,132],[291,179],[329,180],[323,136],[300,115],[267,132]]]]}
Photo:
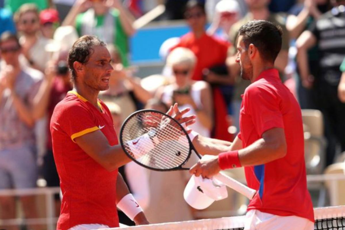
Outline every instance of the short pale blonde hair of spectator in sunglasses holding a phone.
{"type": "Polygon", "coordinates": [[[193,68],[195,63],[196,57],[194,53],[190,49],[183,47],[172,50],[167,57],[167,65],[170,67],[177,64],[187,64],[193,68]]]}

